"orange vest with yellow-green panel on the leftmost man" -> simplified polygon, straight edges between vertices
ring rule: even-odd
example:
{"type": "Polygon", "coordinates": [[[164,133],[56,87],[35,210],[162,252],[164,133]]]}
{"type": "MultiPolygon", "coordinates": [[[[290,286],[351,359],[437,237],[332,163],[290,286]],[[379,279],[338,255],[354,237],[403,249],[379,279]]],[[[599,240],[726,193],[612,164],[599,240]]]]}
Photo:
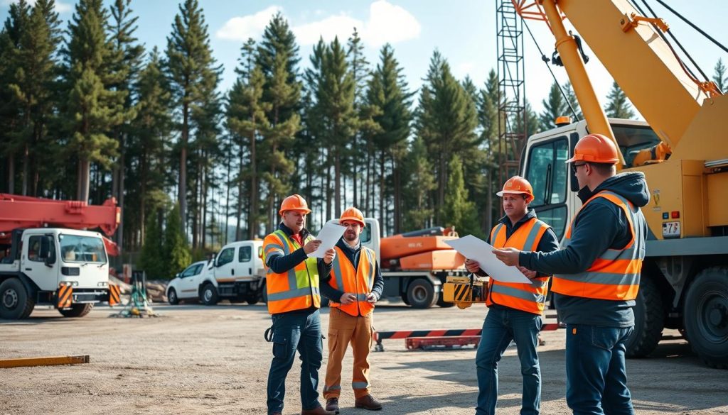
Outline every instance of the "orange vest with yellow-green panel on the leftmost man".
{"type": "MultiPolygon", "coordinates": [[[[306,236],[304,244],[312,241],[312,235],[306,236]]],[[[266,262],[272,254],[288,255],[301,248],[282,230],[269,234],[263,241],[263,264],[266,269],[266,289],[268,291],[268,313],[286,313],[293,310],[304,310],[309,307],[321,307],[317,259],[306,258],[288,271],[274,273],[266,262]]]]}

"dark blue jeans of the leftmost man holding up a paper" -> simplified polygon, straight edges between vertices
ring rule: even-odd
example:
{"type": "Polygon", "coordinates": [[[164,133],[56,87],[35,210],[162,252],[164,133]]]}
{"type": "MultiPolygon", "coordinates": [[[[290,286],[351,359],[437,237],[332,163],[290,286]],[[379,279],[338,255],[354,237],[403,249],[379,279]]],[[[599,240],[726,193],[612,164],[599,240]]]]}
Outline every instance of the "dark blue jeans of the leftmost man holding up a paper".
{"type": "Polygon", "coordinates": [[[296,350],[301,358],[301,407],[315,409],[318,402],[318,370],[323,360],[321,318],[311,314],[282,313],[273,320],[273,361],[268,372],[268,413],[283,411],[285,376],[293,366],[296,350]]]}

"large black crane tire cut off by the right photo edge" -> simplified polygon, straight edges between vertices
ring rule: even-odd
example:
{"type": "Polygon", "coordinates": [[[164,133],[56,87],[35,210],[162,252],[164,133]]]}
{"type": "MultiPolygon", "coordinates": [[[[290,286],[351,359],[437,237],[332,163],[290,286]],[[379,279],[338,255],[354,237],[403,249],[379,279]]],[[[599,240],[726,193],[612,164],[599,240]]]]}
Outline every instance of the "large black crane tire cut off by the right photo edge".
{"type": "Polygon", "coordinates": [[[695,277],[685,297],[685,330],[692,350],[713,368],[728,368],[728,267],[695,277]]]}

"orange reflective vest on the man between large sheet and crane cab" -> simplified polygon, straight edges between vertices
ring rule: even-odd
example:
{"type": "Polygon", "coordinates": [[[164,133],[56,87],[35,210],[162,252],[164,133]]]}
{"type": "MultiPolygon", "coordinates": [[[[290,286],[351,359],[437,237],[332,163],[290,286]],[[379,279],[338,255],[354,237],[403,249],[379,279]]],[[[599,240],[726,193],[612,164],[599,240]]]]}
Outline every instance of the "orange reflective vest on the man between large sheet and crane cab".
{"type": "MultiPolygon", "coordinates": [[[[495,248],[510,246],[520,251],[536,251],[548,228],[549,225],[532,217],[506,239],[505,225],[499,223],[491,230],[491,244],[495,248]]],[[[533,278],[531,283],[504,283],[491,277],[486,305],[504,305],[526,313],[542,314],[546,307],[549,278],[550,276],[533,278]]]]}

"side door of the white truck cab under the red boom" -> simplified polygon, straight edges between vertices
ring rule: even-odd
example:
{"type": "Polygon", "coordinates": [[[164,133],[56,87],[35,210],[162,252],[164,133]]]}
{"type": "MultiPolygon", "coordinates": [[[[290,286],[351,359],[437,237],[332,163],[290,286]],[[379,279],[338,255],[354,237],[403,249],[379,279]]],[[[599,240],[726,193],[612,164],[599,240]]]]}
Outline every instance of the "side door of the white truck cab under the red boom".
{"type": "Polygon", "coordinates": [[[23,235],[23,253],[20,255],[20,272],[36,283],[43,291],[58,289],[55,241],[52,235],[23,235]]]}

